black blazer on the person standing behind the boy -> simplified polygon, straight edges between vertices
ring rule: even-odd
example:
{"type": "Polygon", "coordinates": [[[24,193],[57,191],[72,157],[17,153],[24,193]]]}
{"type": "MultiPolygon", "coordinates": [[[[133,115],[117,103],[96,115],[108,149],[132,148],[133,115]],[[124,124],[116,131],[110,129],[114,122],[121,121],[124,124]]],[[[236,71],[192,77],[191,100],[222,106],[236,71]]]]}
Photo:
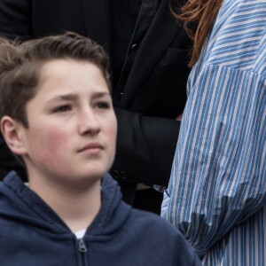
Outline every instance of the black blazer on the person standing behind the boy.
{"type": "MultiPolygon", "coordinates": [[[[176,0],[177,1],[177,0],[176,0]]],[[[104,45],[112,60],[111,0],[1,0],[0,35],[22,40],[66,30],[104,45]]],[[[129,182],[168,184],[189,69],[189,40],[161,0],[137,50],[124,92],[115,103],[119,131],[113,176],[129,182]]],[[[20,168],[4,152],[0,168],[20,168]],[[6,161],[9,163],[6,164],[6,161]]],[[[0,173],[1,174],[1,173],[0,173]]]]}

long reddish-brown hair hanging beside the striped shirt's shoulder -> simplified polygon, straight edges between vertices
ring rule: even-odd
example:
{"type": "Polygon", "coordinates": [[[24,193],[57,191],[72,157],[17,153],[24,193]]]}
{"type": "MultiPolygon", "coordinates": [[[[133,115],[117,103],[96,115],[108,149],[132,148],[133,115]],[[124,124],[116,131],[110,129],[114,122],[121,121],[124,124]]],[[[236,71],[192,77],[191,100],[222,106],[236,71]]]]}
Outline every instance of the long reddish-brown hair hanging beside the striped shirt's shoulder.
{"type": "Polygon", "coordinates": [[[171,4],[171,12],[177,20],[184,23],[184,28],[193,41],[192,58],[189,66],[193,66],[200,58],[203,43],[214,24],[222,3],[223,0],[188,0],[179,9],[176,9],[175,5],[171,4]],[[191,23],[196,23],[194,30],[188,27],[191,23]]]}

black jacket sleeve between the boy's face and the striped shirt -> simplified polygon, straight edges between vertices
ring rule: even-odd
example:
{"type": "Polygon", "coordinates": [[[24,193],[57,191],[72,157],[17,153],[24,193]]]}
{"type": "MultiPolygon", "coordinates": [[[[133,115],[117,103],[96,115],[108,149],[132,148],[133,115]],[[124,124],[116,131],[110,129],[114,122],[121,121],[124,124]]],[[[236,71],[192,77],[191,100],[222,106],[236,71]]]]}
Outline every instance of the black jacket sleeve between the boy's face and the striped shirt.
{"type": "Polygon", "coordinates": [[[116,108],[118,136],[112,175],[129,182],[168,185],[180,122],[116,108]]]}

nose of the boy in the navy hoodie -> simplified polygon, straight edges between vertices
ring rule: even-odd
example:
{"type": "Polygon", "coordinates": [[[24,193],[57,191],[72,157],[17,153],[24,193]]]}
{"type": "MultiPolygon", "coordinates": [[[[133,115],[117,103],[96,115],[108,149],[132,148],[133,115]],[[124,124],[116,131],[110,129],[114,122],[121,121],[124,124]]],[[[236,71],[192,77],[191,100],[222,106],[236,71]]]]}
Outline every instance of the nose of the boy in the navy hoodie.
{"type": "Polygon", "coordinates": [[[92,110],[82,112],[79,119],[79,133],[97,134],[100,130],[100,124],[97,115],[92,110]]]}

